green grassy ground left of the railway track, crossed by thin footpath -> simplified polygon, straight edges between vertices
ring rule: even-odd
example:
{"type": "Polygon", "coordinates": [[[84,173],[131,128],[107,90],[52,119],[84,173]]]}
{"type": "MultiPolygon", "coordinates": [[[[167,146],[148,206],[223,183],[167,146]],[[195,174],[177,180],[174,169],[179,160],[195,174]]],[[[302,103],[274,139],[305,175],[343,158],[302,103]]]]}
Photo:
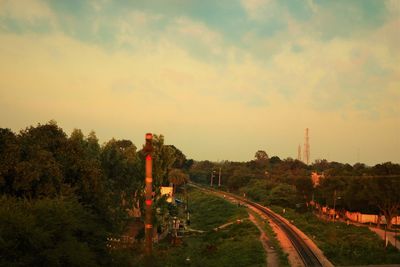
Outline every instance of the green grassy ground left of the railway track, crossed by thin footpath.
{"type": "Polygon", "coordinates": [[[213,229],[237,219],[248,218],[239,208],[197,189],[189,190],[191,228],[203,230],[172,246],[166,240],[154,246],[154,266],[265,266],[265,252],[258,229],[249,221],[213,229]]]}

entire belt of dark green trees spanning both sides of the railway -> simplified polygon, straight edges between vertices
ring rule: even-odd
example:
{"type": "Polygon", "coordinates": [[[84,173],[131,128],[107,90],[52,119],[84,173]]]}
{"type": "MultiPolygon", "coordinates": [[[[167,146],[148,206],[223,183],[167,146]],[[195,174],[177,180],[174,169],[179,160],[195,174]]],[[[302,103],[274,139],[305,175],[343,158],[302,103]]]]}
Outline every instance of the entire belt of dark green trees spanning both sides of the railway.
{"type": "MultiPolygon", "coordinates": [[[[264,204],[320,204],[381,213],[389,220],[400,208],[400,165],[369,167],[326,160],[306,165],[257,151],[248,162],[187,160],[162,135],[154,135],[155,214],[168,207],[160,186],[195,182],[245,194],[264,204]],[[323,173],[319,185],[312,171],[323,173]]],[[[55,123],[19,133],[0,128],[0,265],[129,265],[129,257],[107,249],[107,237],[124,233],[129,209],[143,207],[144,153],[130,140],[104,144],[94,132],[69,136],[55,123]]],[[[155,224],[162,221],[156,216],[155,224]]],[[[133,252],[139,253],[139,252],[133,252]]],[[[131,253],[132,254],[132,253],[131,253]]],[[[132,256],[132,255],[131,255],[132,256]]]]}

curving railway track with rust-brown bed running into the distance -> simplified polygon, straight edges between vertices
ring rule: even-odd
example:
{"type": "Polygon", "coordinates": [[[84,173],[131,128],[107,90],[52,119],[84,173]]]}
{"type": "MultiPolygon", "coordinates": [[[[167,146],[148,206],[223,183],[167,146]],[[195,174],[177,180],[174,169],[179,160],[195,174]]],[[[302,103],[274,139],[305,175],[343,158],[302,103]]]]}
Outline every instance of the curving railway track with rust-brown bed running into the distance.
{"type": "Polygon", "coordinates": [[[277,216],[271,210],[265,208],[264,206],[258,203],[252,202],[248,199],[236,196],[234,194],[217,191],[210,188],[204,188],[193,183],[191,183],[190,185],[205,191],[212,191],[217,194],[224,194],[230,196],[231,198],[234,198],[238,201],[241,201],[243,203],[246,203],[247,205],[250,205],[258,209],[259,211],[267,215],[278,227],[282,229],[282,231],[286,234],[288,239],[292,242],[293,247],[296,249],[297,253],[299,254],[305,266],[324,266],[324,264],[321,263],[320,259],[315,255],[315,253],[312,251],[309,245],[304,241],[304,239],[286,221],[277,216]]]}

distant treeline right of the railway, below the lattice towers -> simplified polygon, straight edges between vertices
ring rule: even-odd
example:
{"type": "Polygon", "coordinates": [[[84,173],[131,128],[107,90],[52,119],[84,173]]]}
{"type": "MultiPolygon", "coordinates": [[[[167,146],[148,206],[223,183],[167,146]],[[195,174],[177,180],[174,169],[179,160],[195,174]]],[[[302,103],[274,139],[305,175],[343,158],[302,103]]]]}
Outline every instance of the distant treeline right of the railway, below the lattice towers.
{"type": "MultiPolygon", "coordinates": [[[[218,185],[245,194],[266,205],[305,208],[314,200],[331,208],[385,215],[387,221],[400,211],[400,165],[386,162],[375,166],[317,160],[306,165],[299,160],[257,151],[248,162],[195,162],[189,174],[193,181],[218,185]],[[311,173],[323,174],[313,184],[311,173]]],[[[389,225],[390,226],[390,225],[389,225]]]]}

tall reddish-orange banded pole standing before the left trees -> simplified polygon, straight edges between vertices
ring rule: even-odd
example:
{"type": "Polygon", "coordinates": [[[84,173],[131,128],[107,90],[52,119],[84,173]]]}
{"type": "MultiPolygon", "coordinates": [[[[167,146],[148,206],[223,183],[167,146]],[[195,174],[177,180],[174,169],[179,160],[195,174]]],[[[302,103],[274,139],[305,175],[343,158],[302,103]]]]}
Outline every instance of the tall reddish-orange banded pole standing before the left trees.
{"type": "Polygon", "coordinates": [[[152,171],[152,152],[153,152],[153,135],[146,134],[146,145],[143,149],[146,155],[146,208],[145,208],[145,254],[151,256],[153,249],[153,218],[152,218],[152,191],[153,191],[153,171],[152,171]]]}

